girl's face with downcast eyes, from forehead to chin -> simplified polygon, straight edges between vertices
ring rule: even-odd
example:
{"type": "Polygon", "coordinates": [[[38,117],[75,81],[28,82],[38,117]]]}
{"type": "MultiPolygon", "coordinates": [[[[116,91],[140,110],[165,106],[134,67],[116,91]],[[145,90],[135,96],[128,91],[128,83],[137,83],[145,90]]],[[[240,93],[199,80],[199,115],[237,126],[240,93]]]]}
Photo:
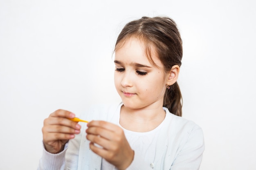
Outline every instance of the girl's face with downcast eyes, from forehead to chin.
{"type": "Polygon", "coordinates": [[[115,87],[125,107],[131,109],[162,107],[167,75],[156,56],[150,64],[144,45],[136,38],[129,38],[115,52],[115,87]]]}

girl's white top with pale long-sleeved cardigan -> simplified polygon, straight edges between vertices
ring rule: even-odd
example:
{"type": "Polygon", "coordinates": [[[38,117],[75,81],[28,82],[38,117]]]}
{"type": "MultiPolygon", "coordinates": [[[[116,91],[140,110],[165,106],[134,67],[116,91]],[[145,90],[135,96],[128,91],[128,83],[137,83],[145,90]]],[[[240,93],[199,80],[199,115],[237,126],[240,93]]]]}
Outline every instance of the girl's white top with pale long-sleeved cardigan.
{"type": "MultiPolygon", "coordinates": [[[[122,103],[97,106],[80,117],[119,125],[121,106],[122,103]]],[[[135,151],[134,159],[126,170],[199,169],[204,151],[202,129],[192,121],[171,114],[167,108],[163,109],[166,112],[164,121],[150,132],[131,132],[123,128],[135,151]]],[[[114,170],[114,166],[90,150],[85,125],[81,123],[81,133],[66,144],[63,152],[51,154],[43,150],[38,170],[114,170]]]]}

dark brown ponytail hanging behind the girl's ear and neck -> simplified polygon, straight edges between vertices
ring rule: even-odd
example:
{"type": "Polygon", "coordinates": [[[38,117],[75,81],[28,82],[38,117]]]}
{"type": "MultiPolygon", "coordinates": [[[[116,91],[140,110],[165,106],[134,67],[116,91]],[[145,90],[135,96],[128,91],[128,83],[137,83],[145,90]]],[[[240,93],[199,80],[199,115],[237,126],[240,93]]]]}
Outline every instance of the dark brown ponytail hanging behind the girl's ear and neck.
{"type": "Polygon", "coordinates": [[[182,116],[182,95],[177,82],[170,89],[166,89],[163,106],[168,108],[174,115],[182,116]]]}

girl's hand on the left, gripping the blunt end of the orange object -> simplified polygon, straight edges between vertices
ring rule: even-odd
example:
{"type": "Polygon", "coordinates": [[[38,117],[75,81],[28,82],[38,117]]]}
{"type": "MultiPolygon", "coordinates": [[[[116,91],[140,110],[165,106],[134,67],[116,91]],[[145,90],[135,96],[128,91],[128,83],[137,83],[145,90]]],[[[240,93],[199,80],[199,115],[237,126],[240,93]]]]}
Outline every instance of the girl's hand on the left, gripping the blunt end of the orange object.
{"type": "Polygon", "coordinates": [[[45,150],[56,154],[64,150],[69,139],[80,133],[81,126],[78,122],[68,118],[74,118],[75,114],[67,110],[56,110],[44,120],[42,128],[43,144],[45,150]]]}

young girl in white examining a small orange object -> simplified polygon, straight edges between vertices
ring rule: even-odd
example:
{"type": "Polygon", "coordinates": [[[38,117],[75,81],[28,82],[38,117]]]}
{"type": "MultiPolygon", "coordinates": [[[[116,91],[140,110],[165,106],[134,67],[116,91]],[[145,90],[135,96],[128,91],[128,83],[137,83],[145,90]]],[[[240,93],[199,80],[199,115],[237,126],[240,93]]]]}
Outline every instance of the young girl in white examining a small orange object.
{"type": "Polygon", "coordinates": [[[115,45],[115,87],[122,102],[79,118],[56,110],[44,121],[38,170],[198,170],[203,133],[182,118],[177,84],[182,40],[166,17],[129,22],[115,45]]]}

